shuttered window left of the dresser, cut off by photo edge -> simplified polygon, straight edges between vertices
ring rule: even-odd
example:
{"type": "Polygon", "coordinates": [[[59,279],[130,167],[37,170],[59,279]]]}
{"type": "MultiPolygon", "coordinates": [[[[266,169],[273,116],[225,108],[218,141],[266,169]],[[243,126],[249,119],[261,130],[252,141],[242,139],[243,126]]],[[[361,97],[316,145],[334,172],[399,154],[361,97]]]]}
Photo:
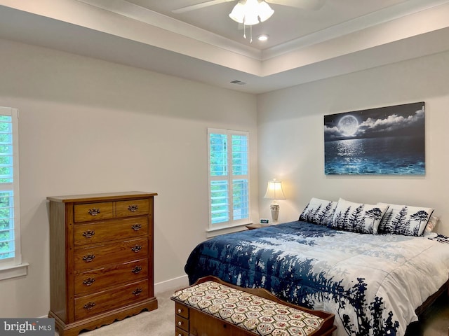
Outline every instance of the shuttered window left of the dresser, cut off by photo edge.
{"type": "Polygon", "coordinates": [[[26,269],[17,273],[22,267],[18,159],[18,111],[0,107],[0,279],[26,274],[26,269]]]}

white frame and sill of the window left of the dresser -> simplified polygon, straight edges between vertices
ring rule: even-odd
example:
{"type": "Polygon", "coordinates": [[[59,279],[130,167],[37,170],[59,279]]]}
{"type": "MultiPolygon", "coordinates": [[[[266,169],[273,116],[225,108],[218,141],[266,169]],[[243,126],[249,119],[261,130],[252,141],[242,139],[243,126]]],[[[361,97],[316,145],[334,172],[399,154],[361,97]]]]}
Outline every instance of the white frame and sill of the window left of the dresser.
{"type": "MultiPolygon", "coordinates": [[[[18,109],[0,106],[0,116],[11,116],[12,146],[13,146],[13,231],[14,256],[0,259],[0,280],[27,274],[27,263],[22,263],[20,244],[20,183],[19,183],[19,113],[18,109]]],[[[7,190],[7,188],[1,188],[7,190]]]]}

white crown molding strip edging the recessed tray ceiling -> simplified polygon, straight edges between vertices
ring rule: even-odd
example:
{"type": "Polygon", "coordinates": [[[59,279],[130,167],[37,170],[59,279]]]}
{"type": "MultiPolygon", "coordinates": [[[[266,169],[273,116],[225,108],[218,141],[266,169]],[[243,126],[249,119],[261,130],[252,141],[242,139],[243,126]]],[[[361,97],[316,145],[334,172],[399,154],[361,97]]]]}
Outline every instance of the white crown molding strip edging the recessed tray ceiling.
{"type": "Polygon", "coordinates": [[[449,0],[408,0],[398,3],[394,6],[383,8],[374,13],[369,13],[361,17],[342,22],[340,25],[334,25],[320,31],[316,31],[311,34],[307,34],[295,40],[276,45],[272,48],[264,50],[258,50],[257,48],[251,48],[248,45],[232,41],[229,38],[225,38],[218,34],[214,34],[206,29],[201,29],[193,25],[189,25],[180,20],[170,18],[161,13],[156,13],[153,10],[138,6],[135,3],[131,3],[126,0],[76,0],[79,2],[87,3],[91,6],[108,10],[109,12],[122,15],[126,18],[143,22],[147,25],[159,27],[166,31],[170,31],[175,34],[180,34],[188,38],[193,38],[196,41],[208,43],[217,48],[234,52],[236,54],[250,57],[258,61],[265,61],[274,57],[288,54],[297,50],[301,50],[311,45],[316,45],[326,41],[345,36],[356,31],[361,31],[377,25],[382,25],[385,22],[390,22],[404,18],[408,15],[419,13],[423,10],[428,10],[438,6],[442,6],[445,3],[449,3],[449,0]]]}

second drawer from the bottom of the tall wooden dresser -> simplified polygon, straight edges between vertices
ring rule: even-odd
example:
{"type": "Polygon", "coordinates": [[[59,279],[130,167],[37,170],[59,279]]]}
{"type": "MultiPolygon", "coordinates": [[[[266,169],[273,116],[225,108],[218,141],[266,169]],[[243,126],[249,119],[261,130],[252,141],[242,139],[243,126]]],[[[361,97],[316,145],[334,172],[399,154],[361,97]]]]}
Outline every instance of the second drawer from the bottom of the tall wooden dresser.
{"type": "Polygon", "coordinates": [[[87,272],[76,272],[75,295],[92,293],[118,283],[135,282],[148,277],[148,259],[107,265],[87,272]]]}

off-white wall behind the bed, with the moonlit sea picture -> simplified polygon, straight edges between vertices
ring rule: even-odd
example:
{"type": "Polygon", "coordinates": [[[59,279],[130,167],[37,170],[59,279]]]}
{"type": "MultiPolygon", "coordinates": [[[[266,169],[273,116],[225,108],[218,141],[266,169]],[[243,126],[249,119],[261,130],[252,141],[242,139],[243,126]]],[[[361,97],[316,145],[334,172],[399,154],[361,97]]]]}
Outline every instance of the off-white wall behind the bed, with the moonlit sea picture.
{"type": "MultiPolygon", "coordinates": [[[[449,235],[449,52],[262,94],[257,98],[260,190],[283,180],[280,221],[295,221],[311,197],[434,207],[449,235]],[[326,176],[323,116],[425,102],[425,176],[326,176]]],[[[269,216],[269,201],[260,202],[269,216]]]]}

